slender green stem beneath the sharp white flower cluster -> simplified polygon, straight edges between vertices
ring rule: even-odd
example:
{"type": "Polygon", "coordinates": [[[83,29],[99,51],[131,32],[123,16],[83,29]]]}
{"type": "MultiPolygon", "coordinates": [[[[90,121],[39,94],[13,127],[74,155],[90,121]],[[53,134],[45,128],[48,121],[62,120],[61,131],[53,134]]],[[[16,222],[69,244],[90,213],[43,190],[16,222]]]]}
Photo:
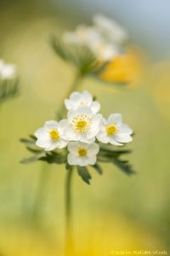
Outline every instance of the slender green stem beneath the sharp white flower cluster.
{"type": "Polygon", "coordinates": [[[72,235],[72,208],[71,208],[71,177],[73,168],[66,171],[65,179],[65,256],[73,253],[73,235],[72,235]]]}

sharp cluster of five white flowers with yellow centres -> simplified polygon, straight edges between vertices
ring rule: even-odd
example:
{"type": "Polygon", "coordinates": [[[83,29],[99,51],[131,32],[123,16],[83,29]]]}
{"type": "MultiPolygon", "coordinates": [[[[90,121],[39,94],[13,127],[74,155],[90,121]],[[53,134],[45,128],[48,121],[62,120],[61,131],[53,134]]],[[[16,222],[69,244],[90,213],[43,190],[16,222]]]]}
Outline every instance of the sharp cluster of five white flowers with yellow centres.
{"type": "Polygon", "coordinates": [[[100,104],[88,91],[73,92],[65,99],[67,119],[49,120],[35,132],[36,144],[45,151],[67,148],[70,166],[94,166],[101,143],[121,146],[132,141],[133,131],[122,123],[122,114],[112,113],[105,119],[100,104]]]}

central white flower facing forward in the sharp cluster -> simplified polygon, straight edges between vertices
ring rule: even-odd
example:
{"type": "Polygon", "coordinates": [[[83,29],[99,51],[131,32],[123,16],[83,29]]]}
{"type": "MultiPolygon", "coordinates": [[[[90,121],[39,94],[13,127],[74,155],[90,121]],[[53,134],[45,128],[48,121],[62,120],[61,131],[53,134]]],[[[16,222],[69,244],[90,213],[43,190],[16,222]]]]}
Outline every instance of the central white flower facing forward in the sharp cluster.
{"type": "Polygon", "coordinates": [[[93,113],[88,107],[71,109],[68,112],[68,125],[65,136],[69,141],[94,143],[95,136],[99,133],[101,115],[93,113]]]}

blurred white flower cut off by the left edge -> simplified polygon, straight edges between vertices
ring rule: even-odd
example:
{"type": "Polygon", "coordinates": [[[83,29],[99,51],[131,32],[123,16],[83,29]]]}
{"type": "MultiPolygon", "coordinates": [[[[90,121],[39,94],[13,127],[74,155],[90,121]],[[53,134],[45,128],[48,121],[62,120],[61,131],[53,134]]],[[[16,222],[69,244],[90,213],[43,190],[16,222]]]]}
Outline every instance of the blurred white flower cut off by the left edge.
{"type": "Polygon", "coordinates": [[[6,64],[0,60],[0,79],[14,79],[16,67],[13,64],[6,64]]]}

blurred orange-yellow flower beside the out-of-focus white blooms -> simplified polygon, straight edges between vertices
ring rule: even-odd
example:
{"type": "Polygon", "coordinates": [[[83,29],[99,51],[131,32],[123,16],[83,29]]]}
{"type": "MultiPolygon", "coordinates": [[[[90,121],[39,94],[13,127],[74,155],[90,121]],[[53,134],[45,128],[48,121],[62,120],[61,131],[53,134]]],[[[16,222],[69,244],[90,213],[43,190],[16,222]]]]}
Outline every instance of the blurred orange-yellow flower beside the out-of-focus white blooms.
{"type": "Polygon", "coordinates": [[[99,77],[108,82],[136,84],[142,70],[142,61],[136,51],[128,50],[127,54],[117,55],[109,62],[99,77]]]}

